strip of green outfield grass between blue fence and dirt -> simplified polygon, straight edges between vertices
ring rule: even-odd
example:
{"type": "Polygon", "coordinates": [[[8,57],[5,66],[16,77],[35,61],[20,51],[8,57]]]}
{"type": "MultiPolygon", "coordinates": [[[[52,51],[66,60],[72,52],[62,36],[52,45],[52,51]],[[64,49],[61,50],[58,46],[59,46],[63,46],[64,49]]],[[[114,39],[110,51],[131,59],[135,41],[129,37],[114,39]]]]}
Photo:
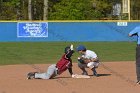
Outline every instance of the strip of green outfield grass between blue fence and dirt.
{"type": "MultiPolygon", "coordinates": [[[[56,63],[67,45],[85,45],[103,61],[135,60],[135,42],[1,42],[0,65],[56,63]]],[[[77,61],[78,53],[73,55],[77,61]]]]}

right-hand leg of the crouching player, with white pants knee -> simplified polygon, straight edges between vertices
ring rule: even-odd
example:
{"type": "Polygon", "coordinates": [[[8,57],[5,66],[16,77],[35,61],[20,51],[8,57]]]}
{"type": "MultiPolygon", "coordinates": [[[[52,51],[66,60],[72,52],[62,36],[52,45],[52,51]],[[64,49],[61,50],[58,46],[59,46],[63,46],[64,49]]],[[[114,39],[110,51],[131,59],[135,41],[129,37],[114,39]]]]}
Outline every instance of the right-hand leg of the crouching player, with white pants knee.
{"type": "Polygon", "coordinates": [[[87,66],[93,71],[93,76],[98,76],[96,68],[98,68],[99,62],[89,62],[87,66]]]}

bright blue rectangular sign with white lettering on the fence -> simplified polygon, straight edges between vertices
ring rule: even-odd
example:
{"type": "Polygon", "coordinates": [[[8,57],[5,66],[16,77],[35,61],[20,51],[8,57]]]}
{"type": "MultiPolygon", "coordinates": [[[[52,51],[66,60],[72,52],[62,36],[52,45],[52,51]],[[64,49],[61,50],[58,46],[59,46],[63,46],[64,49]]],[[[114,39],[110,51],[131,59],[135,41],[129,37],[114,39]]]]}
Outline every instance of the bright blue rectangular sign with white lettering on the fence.
{"type": "Polygon", "coordinates": [[[48,22],[18,22],[17,37],[48,37],[48,22]]]}

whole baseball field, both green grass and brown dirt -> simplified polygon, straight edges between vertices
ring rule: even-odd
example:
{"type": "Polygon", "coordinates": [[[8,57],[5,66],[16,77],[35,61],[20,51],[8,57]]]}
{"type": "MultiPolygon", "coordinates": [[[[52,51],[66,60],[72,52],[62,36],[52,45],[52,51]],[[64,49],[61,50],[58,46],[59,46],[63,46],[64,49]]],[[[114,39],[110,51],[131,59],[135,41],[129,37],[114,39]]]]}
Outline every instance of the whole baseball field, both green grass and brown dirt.
{"type": "MultiPolygon", "coordinates": [[[[0,42],[0,93],[139,93],[135,73],[136,42],[0,42]],[[99,77],[71,78],[66,71],[51,80],[26,80],[30,71],[44,72],[67,45],[85,45],[100,58],[99,77]]],[[[81,74],[74,53],[73,72],[81,74]]]]}

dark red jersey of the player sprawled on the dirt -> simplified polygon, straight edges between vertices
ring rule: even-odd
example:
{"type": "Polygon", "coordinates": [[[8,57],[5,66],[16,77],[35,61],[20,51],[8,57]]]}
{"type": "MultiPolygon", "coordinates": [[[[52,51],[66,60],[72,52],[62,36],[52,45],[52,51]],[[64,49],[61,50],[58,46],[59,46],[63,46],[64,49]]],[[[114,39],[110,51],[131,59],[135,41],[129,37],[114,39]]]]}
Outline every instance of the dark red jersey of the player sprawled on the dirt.
{"type": "Polygon", "coordinates": [[[61,59],[56,64],[56,67],[58,68],[58,74],[60,75],[64,71],[66,71],[68,68],[72,67],[72,60],[71,58],[67,58],[66,54],[64,54],[61,59]]]}

